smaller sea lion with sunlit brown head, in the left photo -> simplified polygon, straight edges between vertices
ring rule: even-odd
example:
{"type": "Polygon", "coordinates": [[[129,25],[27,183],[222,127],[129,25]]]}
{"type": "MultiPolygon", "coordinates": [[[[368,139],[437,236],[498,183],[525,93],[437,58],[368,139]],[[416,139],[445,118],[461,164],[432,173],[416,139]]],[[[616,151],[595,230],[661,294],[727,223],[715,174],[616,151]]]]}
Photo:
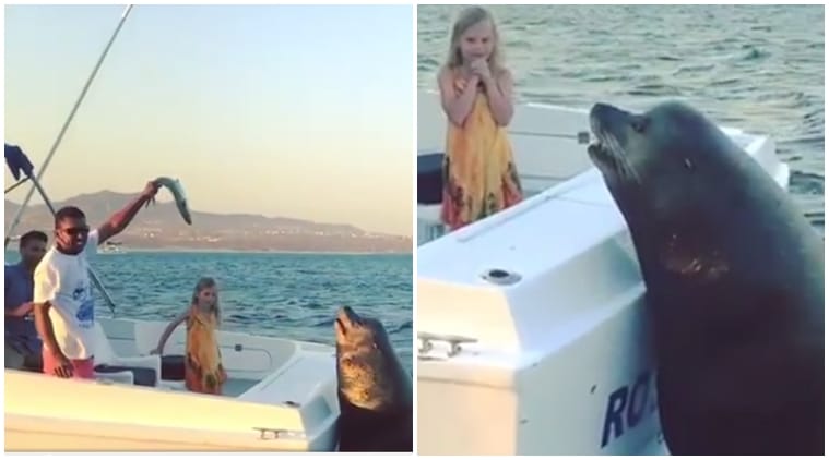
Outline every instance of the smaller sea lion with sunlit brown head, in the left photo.
{"type": "Polygon", "coordinates": [[[334,330],[340,450],[411,452],[412,376],[382,324],[344,306],[334,330]]]}

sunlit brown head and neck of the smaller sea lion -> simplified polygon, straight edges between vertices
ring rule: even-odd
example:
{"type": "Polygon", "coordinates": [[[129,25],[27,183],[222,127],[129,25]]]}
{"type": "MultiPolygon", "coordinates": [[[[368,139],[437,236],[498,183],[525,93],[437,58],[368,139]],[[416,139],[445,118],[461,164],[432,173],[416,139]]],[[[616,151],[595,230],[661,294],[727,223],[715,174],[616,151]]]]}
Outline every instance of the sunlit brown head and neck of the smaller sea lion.
{"type": "Polygon", "coordinates": [[[340,308],[334,320],[341,398],[367,410],[393,404],[399,364],[382,324],[340,308]]]}

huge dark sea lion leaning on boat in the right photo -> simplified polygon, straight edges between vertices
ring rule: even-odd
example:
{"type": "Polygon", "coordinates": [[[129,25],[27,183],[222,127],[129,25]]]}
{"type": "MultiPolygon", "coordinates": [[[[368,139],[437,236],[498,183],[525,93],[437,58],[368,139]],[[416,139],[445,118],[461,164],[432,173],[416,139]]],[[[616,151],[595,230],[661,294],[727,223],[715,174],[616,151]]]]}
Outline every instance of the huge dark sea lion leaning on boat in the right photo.
{"type": "Polygon", "coordinates": [[[824,245],[697,110],[595,105],[588,148],[630,230],[673,455],[824,453],[824,245]]]}

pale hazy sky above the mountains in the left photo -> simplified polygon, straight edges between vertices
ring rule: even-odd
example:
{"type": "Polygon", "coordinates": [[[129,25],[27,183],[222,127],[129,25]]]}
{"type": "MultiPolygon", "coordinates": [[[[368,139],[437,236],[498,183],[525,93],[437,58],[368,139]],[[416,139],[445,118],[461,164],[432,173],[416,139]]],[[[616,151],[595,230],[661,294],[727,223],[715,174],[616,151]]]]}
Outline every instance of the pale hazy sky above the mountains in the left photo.
{"type": "MultiPolygon", "coordinates": [[[[4,138],[36,171],[122,12],[5,7],[4,138]]],[[[411,5],[135,5],[43,185],[60,201],[168,175],[194,210],[411,237],[412,16],[411,5]]]]}

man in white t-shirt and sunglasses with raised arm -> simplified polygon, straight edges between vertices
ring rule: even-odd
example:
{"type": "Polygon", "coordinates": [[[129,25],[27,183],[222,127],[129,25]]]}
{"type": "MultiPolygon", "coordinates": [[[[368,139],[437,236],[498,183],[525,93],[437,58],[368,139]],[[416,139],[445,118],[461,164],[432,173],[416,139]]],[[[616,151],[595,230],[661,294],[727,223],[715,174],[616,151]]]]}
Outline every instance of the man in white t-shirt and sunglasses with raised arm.
{"type": "Polygon", "coordinates": [[[158,186],[155,181],[149,182],[135,199],[97,230],[90,231],[86,216],[74,206],[56,213],[55,245],[34,276],[35,326],[44,343],[44,374],[94,378],[95,304],[86,256],[122,232],[158,186]]]}

